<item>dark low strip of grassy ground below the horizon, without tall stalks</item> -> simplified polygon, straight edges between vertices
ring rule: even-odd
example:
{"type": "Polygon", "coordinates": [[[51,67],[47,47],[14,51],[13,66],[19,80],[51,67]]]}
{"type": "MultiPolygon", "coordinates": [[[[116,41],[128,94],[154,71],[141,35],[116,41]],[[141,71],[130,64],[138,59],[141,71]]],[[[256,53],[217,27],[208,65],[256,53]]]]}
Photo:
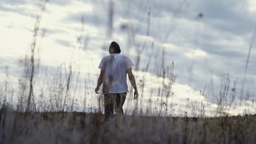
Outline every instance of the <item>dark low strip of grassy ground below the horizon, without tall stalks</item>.
{"type": "Polygon", "coordinates": [[[255,143],[256,115],[232,117],[114,116],[20,113],[2,107],[0,143],[255,143]]]}

